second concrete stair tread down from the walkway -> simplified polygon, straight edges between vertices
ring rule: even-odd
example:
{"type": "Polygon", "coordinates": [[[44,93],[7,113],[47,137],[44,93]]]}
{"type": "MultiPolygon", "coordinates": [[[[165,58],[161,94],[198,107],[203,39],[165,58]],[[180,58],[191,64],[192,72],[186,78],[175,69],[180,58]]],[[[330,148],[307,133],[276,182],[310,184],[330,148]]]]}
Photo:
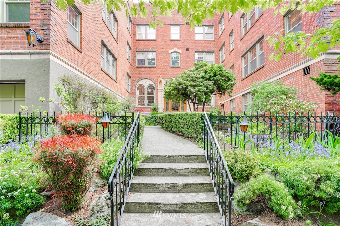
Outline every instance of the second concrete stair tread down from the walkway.
{"type": "MultiPolygon", "coordinates": [[[[211,184],[209,176],[196,176],[196,177],[144,177],[136,176],[133,177],[133,184],[179,184],[179,183],[190,183],[190,184],[211,184]]],[[[211,185],[212,187],[212,185],[211,185]]]]}

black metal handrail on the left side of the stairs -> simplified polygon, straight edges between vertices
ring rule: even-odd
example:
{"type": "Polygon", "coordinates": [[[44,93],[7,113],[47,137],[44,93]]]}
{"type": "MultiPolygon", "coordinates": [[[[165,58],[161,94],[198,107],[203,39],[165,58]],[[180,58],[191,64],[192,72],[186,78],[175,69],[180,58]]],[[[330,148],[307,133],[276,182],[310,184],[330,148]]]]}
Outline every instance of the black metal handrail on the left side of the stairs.
{"type": "Polygon", "coordinates": [[[119,225],[128,197],[135,168],[133,166],[135,149],[139,144],[139,112],[131,126],[124,146],[107,182],[111,205],[111,225],[119,225]],[[116,222],[116,224],[115,224],[116,222]]]}

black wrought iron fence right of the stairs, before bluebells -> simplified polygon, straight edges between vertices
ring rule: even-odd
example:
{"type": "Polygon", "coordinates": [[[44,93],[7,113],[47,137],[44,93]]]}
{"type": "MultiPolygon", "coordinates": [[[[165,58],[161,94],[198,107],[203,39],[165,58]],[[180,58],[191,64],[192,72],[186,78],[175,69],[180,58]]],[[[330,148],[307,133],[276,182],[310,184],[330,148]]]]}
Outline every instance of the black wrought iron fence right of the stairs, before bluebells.
{"type": "MultiPolygon", "coordinates": [[[[340,113],[340,112],[339,112],[340,113]]],[[[314,141],[327,142],[330,131],[334,136],[340,136],[340,116],[339,114],[322,112],[313,114],[297,115],[246,115],[249,123],[246,132],[237,132],[236,126],[239,122],[239,115],[212,115],[210,122],[217,132],[216,136],[220,145],[224,149],[241,147],[258,149],[265,140],[272,143],[275,139],[282,139],[286,143],[299,140],[301,137],[308,138],[312,133],[314,141]]],[[[285,150],[285,145],[282,145],[285,150]]]]}

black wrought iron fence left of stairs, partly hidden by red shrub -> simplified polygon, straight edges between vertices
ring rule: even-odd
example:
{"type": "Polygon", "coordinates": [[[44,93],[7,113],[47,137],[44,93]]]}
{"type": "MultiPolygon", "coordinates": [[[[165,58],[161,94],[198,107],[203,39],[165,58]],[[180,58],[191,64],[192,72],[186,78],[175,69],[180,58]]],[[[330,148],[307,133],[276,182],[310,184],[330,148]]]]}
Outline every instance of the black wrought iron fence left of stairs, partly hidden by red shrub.
{"type": "MultiPolygon", "coordinates": [[[[47,136],[52,132],[57,117],[55,112],[53,112],[53,115],[49,115],[48,112],[46,114],[41,112],[39,114],[35,112],[28,114],[26,112],[22,115],[21,112],[19,112],[19,141],[34,139],[37,135],[40,137],[47,136]]],[[[124,112],[124,114],[120,114],[119,112],[112,114],[112,112],[110,112],[111,123],[108,129],[104,129],[101,125],[103,115],[96,113],[96,115],[91,115],[91,117],[98,119],[95,136],[100,137],[103,141],[112,140],[112,138],[115,137],[120,137],[125,140],[134,120],[134,112],[124,112]]]]}

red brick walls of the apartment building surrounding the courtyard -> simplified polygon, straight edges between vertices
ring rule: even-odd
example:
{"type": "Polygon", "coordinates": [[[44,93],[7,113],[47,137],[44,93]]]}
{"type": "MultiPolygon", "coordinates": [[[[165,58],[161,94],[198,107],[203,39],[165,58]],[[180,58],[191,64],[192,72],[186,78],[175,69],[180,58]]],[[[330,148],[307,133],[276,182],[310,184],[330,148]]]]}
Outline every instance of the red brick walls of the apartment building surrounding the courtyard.
{"type": "MultiPolygon", "coordinates": [[[[30,1],[30,23],[2,23],[0,48],[5,52],[25,52],[27,50],[49,50],[60,60],[60,64],[76,68],[95,82],[115,91],[123,98],[136,97],[136,85],[141,80],[149,79],[156,88],[156,103],[159,109],[164,108],[163,86],[167,79],[179,75],[182,71],[191,68],[195,62],[195,52],[214,52],[215,63],[220,63],[219,49],[225,45],[225,68],[234,65],[237,84],[233,96],[224,96],[215,99],[215,104],[223,104],[225,112],[230,112],[230,100],[235,99],[235,111],[242,111],[242,95],[249,92],[254,82],[281,80],[289,86],[298,88],[298,97],[306,101],[315,101],[320,105],[319,110],[340,110],[338,100],[340,96],[333,97],[319,89],[309,77],[316,77],[320,71],[338,73],[336,57],[340,54],[340,47],[330,50],[313,60],[300,57],[300,54],[284,54],[283,59],[270,61],[269,56],[273,47],[264,42],[265,64],[242,78],[242,56],[260,39],[284,29],[284,17],[273,16],[275,9],[268,9],[257,18],[256,22],[241,35],[241,12],[229,18],[229,13],[216,14],[213,19],[206,19],[203,25],[214,25],[214,40],[195,40],[194,30],[185,24],[185,19],[173,12],[171,17],[159,18],[164,26],[157,26],[155,40],[138,40],[136,26],[149,24],[150,17],[132,18],[131,33],[127,28],[125,12],[115,12],[118,20],[117,38],[115,38],[102,19],[101,4],[85,5],[76,1],[75,7],[81,13],[80,44],[75,45],[67,38],[67,11],[58,9],[54,1],[30,1]],[[219,21],[224,16],[224,30],[219,34],[219,21]],[[180,25],[180,40],[170,39],[171,25],[180,25]],[[44,42],[34,48],[27,45],[24,29],[33,28],[44,42]],[[233,31],[234,48],[229,49],[229,34],[233,31]],[[117,76],[113,79],[101,69],[101,43],[117,58],[117,76]],[[126,45],[130,44],[131,62],[126,57],[126,45]],[[180,67],[170,66],[171,50],[180,53],[180,67]],[[156,66],[136,66],[136,52],[156,52],[156,66]],[[302,68],[310,66],[310,74],[303,76],[302,68]],[[126,90],[126,74],[131,76],[131,92],[126,90]]],[[[340,3],[325,7],[319,13],[303,14],[302,28],[306,33],[329,26],[330,21],[340,17],[340,3]]],[[[50,57],[50,59],[54,59],[50,57]]],[[[71,69],[72,71],[73,69],[71,69]]],[[[80,73],[80,74],[81,74],[80,73]]],[[[208,108],[207,108],[208,109],[208,108]]],[[[188,107],[187,107],[188,110],[188,107]]],[[[145,111],[150,111],[145,107],[145,111]]]]}

